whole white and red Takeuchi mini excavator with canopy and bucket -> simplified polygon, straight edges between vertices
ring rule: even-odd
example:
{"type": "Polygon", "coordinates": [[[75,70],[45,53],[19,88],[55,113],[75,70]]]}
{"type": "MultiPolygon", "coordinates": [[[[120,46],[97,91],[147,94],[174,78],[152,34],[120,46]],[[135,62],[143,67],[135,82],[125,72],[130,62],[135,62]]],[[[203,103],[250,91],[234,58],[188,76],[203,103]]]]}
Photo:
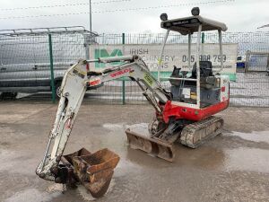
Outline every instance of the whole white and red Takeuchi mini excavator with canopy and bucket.
{"type": "MultiPolygon", "coordinates": [[[[199,8],[195,7],[192,16],[173,20],[168,20],[166,13],[161,14],[161,28],[167,30],[161,56],[169,31],[188,36],[188,58],[191,57],[192,34],[197,34],[196,62],[191,66],[188,60],[190,71],[174,66],[169,77],[170,91],[161,86],[160,75],[158,79],[152,76],[143,59],[136,55],[81,59],[66,71],[47,149],[36,170],[40,178],[64,185],[81,183],[94,198],[100,198],[106,193],[119,156],[107,148],[93,154],[82,148],[73,154],[64,155],[64,150],[85,92],[122,77],[129,77],[136,82],[156,111],[155,119],[149,124],[149,136],[126,129],[127,141],[132,148],[172,162],[175,156],[174,142],[195,148],[221,133],[223,119],[213,115],[229,105],[229,78],[220,74],[223,68],[221,31],[226,31],[227,27],[199,13],[199,8]],[[197,59],[201,56],[201,31],[218,31],[221,68],[213,69],[211,61],[197,59]],[[107,65],[120,62],[117,63],[120,65],[96,72],[89,67],[93,62],[107,65]]],[[[161,68],[161,60],[159,64],[161,68]]]]}

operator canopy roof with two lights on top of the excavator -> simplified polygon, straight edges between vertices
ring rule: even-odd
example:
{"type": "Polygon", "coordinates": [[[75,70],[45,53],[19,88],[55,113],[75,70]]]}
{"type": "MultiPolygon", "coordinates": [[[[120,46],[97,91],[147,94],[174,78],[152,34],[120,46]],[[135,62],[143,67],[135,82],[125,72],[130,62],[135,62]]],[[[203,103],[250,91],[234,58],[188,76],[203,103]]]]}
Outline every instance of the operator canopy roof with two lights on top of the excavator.
{"type": "MultiPolygon", "coordinates": [[[[199,9],[199,8],[194,8],[199,9]]],[[[193,10],[194,10],[193,9],[193,10]]],[[[193,13],[193,11],[192,11],[193,13]]],[[[173,20],[167,19],[167,14],[161,14],[161,28],[169,31],[178,31],[182,35],[193,34],[198,31],[199,24],[202,24],[202,31],[227,31],[225,23],[213,21],[199,15],[200,11],[193,13],[194,16],[177,18],[173,20]]]]}

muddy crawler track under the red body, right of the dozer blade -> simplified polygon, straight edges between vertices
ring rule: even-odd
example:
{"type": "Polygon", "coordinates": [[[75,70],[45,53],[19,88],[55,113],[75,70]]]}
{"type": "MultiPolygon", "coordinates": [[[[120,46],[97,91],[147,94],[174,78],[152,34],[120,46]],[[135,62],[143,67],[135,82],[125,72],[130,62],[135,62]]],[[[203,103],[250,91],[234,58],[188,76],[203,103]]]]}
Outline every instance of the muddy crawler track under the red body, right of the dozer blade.
{"type": "Polygon", "coordinates": [[[223,119],[213,116],[189,124],[181,131],[180,143],[191,148],[196,148],[208,139],[221,134],[222,126],[223,119]]]}

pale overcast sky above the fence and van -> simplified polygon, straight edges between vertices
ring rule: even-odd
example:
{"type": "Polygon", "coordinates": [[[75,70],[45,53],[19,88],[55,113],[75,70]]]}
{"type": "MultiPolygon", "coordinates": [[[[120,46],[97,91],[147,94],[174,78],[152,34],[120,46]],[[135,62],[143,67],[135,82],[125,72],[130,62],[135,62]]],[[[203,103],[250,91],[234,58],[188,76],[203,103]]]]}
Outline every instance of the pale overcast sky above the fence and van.
{"type": "MultiPolygon", "coordinates": [[[[0,30],[76,25],[89,30],[89,2],[1,0],[0,30]]],[[[228,31],[269,31],[257,30],[269,24],[269,0],[91,0],[92,31],[159,33],[163,32],[161,13],[168,13],[169,19],[186,17],[195,6],[200,7],[202,16],[225,22],[228,31]]]]}

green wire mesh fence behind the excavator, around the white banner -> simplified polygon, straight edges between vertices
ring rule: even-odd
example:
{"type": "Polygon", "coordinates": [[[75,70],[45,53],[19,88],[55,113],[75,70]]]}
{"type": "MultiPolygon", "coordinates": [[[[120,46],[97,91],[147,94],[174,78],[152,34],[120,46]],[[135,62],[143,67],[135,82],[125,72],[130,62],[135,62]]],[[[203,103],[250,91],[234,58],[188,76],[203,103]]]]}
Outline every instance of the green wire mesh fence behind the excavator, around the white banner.
{"type": "MultiPolygon", "coordinates": [[[[269,52],[269,32],[224,32],[223,43],[238,44],[238,56],[244,62],[247,51],[269,52]]],[[[163,33],[125,34],[126,44],[161,44],[163,33]]],[[[192,41],[195,43],[196,36],[192,41]]],[[[56,80],[63,76],[65,70],[73,65],[79,58],[92,57],[89,46],[98,44],[100,48],[110,45],[118,46],[123,42],[122,34],[100,34],[98,37],[89,38],[82,33],[52,34],[52,49],[54,61],[54,74],[56,80]]],[[[171,34],[168,44],[187,44],[187,37],[171,34]]],[[[218,43],[215,33],[205,33],[204,43],[218,43]]],[[[111,55],[111,53],[109,53],[111,55]]],[[[230,104],[234,106],[269,107],[269,77],[267,75],[268,56],[256,55],[247,58],[251,71],[245,72],[244,68],[238,68],[236,81],[230,83],[230,104]],[[256,67],[258,66],[258,68],[256,67]]],[[[236,64],[235,64],[236,65],[236,64]]],[[[50,86],[39,87],[43,78],[49,80],[49,51],[48,35],[27,36],[0,36],[0,92],[8,92],[8,85],[4,82],[17,83],[17,89],[28,83],[28,87],[36,92],[50,92],[50,86]],[[20,80],[25,81],[18,81],[20,80]],[[16,80],[17,79],[17,80],[16,80]],[[31,83],[29,83],[31,81],[31,83]],[[1,86],[2,84],[2,86],[1,86]],[[44,90],[45,89],[45,90],[44,90]]],[[[46,82],[44,83],[46,85],[46,82]]],[[[169,82],[162,82],[169,90],[169,82]]],[[[11,90],[12,91],[12,90],[11,90]]],[[[15,90],[13,90],[14,92],[15,90]]],[[[17,90],[17,92],[30,92],[29,90],[17,90]]],[[[122,80],[105,83],[100,89],[87,92],[87,101],[100,103],[126,104],[146,103],[142,92],[136,83],[122,80]]]]}

